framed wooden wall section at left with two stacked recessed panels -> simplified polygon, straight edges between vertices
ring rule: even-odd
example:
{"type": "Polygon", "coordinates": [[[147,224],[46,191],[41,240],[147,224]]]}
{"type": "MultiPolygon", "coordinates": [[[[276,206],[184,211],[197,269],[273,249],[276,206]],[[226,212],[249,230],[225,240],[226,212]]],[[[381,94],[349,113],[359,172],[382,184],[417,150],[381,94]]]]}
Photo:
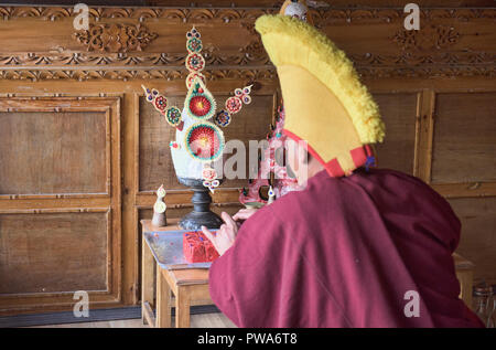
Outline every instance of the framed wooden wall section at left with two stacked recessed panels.
{"type": "Polygon", "coordinates": [[[1,96],[0,125],[0,314],[120,303],[120,97],[1,96]]]}

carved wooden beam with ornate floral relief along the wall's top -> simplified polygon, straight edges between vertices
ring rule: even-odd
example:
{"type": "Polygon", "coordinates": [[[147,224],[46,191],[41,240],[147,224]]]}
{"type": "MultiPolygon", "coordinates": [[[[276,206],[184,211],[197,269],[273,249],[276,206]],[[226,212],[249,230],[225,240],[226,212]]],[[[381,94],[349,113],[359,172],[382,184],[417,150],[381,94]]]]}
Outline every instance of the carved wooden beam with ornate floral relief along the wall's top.
{"type": "MultiPolygon", "coordinates": [[[[316,25],[346,51],[363,76],[495,75],[496,52],[484,43],[494,39],[488,29],[494,26],[496,9],[422,9],[420,31],[403,29],[402,8],[312,11],[316,25]],[[375,31],[367,29],[369,24],[375,25],[375,31]],[[358,43],[367,41],[374,44],[358,43]]],[[[277,9],[268,8],[99,7],[90,8],[87,31],[74,31],[72,7],[0,7],[0,17],[7,20],[10,31],[22,33],[21,19],[22,23],[32,19],[30,23],[35,28],[41,23],[51,28],[43,20],[52,20],[57,32],[69,31],[67,35],[75,39],[71,42],[64,35],[41,32],[44,36],[31,43],[31,29],[29,44],[23,41],[19,50],[12,50],[17,42],[0,33],[4,42],[0,49],[0,79],[184,79],[187,53],[171,38],[193,23],[213,25],[205,25],[211,39],[204,49],[211,78],[272,79],[274,68],[254,23],[259,15],[274,12],[277,9]],[[215,28],[222,25],[228,25],[237,41],[219,40],[215,28]],[[24,46],[32,51],[23,52],[24,46]]]]}

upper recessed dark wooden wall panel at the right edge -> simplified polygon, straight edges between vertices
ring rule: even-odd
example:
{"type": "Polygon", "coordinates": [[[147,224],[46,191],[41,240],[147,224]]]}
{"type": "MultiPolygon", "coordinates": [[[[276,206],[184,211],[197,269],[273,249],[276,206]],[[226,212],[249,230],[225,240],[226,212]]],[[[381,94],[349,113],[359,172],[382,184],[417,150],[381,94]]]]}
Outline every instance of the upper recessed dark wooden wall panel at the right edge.
{"type": "Polygon", "coordinates": [[[496,93],[435,96],[432,183],[496,181],[496,93]]]}

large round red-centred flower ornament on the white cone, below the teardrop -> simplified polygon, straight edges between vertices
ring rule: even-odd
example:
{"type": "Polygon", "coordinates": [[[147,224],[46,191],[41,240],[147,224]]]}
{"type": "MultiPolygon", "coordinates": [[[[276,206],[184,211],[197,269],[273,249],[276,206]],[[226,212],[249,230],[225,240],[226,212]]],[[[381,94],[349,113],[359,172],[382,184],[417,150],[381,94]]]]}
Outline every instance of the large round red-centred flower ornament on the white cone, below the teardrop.
{"type": "Polygon", "coordinates": [[[224,151],[224,134],[209,121],[198,121],[185,132],[184,145],[193,159],[215,161],[224,151]]]}

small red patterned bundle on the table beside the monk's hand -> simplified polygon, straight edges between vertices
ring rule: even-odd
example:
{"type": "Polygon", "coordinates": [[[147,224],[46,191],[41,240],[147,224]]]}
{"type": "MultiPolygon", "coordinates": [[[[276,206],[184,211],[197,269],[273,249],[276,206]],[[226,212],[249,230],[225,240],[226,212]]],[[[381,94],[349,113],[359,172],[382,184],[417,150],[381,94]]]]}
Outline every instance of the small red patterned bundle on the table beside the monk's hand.
{"type": "Polygon", "coordinates": [[[183,254],[188,263],[208,263],[219,256],[212,242],[200,231],[183,234],[183,254]]]}

